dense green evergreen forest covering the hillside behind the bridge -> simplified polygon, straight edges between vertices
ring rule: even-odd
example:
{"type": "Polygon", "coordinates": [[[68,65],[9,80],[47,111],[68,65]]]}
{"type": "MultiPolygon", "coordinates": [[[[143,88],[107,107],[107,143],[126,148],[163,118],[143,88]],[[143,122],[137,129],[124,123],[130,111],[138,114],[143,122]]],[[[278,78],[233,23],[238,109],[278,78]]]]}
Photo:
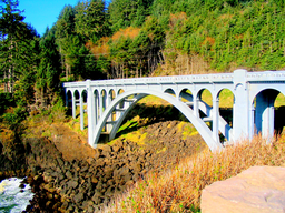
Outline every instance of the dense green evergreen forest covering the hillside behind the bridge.
{"type": "Polygon", "coordinates": [[[284,0],[80,0],[41,37],[18,3],[0,0],[0,78],[22,106],[62,81],[285,68],[284,0]]]}

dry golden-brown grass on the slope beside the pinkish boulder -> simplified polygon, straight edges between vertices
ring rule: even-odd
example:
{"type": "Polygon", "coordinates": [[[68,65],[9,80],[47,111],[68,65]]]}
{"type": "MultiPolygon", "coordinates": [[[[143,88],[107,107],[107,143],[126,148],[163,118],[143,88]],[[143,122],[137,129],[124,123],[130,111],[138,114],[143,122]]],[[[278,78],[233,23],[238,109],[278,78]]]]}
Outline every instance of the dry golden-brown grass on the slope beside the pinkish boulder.
{"type": "Polygon", "coordinates": [[[102,212],[197,212],[202,190],[253,165],[285,165],[285,135],[271,144],[256,136],[216,153],[204,151],[165,173],[150,173],[102,212]]]}

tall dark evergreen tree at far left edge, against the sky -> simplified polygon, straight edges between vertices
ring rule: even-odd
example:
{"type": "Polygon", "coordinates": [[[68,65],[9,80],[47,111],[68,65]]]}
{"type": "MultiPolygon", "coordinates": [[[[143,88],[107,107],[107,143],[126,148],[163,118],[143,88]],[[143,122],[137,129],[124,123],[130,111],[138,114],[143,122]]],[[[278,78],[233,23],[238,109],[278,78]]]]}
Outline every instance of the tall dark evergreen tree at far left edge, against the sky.
{"type": "Polygon", "coordinates": [[[37,32],[23,22],[17,0],[1,0],[0,3],[0,70],[4,91],[13,93],[22,71],[31,69],[33,51],[30,45],[37,32]]]}

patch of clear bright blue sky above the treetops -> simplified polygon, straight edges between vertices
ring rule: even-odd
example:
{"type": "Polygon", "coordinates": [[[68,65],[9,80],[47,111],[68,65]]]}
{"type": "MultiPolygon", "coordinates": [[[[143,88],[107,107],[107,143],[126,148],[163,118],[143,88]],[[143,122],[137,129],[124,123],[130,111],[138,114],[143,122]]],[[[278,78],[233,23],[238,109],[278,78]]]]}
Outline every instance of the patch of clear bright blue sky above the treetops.
{"type": "Polygon", "coordinates": [[[78,0],[19,0],[19,9],[24,10],[24,22],[30,23],[42,36],[51,28],[65,6],[76,6],[78,0]]]}

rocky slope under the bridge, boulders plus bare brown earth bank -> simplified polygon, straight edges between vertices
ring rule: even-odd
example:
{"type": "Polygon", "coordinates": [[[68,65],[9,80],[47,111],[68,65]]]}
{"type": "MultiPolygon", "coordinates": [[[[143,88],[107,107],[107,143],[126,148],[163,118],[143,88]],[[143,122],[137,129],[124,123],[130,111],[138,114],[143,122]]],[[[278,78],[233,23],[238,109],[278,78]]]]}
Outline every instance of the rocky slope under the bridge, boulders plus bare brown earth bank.
{"type": "Polygon", "coordinates": [[[21,152],[14,158],[22,159],[21,170],[1,168],[12,171],[2,172],[2,178],[13,175],[13,171],[28,175],[27,181],[37,192],[28,212],[97,212],[148,172],[165,172],[180,159],[205,149],[198,134],[185,136],[177,112],[163,115],[149,114],[144,116],[147,122],[138,121],[134,131],[144,135],[140,143],[120,135],[96,150],[66,125],[35,125],[26,131],[21,152]],[[39,136],[45,131],[49,136],[39,136]]]}

